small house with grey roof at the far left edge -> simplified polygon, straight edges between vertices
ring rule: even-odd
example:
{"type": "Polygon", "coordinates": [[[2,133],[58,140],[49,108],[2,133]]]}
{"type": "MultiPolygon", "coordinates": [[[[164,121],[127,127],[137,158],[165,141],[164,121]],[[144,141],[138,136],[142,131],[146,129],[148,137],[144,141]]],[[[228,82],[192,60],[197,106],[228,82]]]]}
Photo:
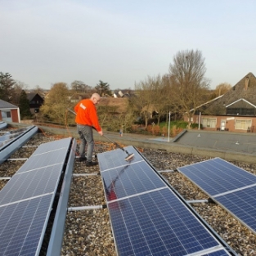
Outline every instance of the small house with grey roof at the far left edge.
{"type": "Polygon", "coordinates": [[[20,123],[20,109],[7,101],[0,100],[0,121],[20,123]]]}

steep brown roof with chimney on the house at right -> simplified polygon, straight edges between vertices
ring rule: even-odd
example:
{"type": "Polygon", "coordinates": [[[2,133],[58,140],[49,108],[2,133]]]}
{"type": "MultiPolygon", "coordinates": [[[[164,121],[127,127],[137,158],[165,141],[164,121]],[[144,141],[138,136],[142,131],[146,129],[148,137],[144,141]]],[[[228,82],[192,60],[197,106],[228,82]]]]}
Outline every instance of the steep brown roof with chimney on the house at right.
{"type": "Polygon", "coordinates": [[[240,100],[249,103],[251,106],[256,106],[256,78],[251,72],[240,79],[217,101],[213,101],[206,111],[212,115],[226,115],[227,106],[231,106],[240,100]]]}

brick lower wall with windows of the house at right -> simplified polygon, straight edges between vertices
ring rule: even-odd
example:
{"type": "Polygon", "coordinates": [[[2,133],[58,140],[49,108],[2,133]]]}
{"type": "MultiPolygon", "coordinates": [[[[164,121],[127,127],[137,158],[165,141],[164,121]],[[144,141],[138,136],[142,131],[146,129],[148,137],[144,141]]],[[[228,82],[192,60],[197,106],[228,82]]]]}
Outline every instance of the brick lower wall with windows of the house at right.
{"type": "MultiPolygon", "coordinates": [[[[204,130],[229,132],[256,132],[256,117],[227,115],[194,115],[192,123],[203,125],[204,130]]],[[[185,120],[188,121],[187,117],[185,120]]]]}

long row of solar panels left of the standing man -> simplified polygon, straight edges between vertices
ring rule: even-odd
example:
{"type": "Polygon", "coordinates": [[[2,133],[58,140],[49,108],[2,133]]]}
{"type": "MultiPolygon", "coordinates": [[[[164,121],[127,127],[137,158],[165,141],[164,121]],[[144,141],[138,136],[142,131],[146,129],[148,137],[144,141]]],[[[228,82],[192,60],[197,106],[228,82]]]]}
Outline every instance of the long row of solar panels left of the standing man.
{"type": "Polygon", "coordinates": [[[71,138],[34,154],[0,191],[0,255],[38,255],[71,138]]]}

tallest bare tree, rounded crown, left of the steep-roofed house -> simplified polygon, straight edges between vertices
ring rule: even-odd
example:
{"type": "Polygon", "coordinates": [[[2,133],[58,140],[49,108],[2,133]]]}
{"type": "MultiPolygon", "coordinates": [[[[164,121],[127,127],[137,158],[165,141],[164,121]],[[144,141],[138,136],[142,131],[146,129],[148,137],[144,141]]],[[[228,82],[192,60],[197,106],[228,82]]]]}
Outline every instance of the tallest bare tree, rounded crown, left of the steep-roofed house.
{"type": "Polygon", "coordinates": [[[209,79],[204,78],[206,68],[198,50],[177,52],[169,65],[173,101],[182,114],[188,117],[189,128],[197,106],[204,102],[209,79]]]}

